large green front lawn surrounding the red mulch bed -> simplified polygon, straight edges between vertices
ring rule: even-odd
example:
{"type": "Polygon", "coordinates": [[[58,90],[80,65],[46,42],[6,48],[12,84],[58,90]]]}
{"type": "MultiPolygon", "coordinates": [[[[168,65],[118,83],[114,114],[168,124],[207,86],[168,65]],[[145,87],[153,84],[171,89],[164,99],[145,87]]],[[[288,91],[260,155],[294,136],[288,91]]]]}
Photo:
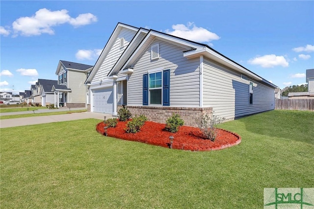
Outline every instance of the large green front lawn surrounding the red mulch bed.
{"type": "Polygon", "coordinates": [[[262,208],[264,187],[314,187],[313,118],[274,110],[221,124],[242,142],[212,152],[105,137],[96,119],[1,129],[1,209],[262,208]]]}

